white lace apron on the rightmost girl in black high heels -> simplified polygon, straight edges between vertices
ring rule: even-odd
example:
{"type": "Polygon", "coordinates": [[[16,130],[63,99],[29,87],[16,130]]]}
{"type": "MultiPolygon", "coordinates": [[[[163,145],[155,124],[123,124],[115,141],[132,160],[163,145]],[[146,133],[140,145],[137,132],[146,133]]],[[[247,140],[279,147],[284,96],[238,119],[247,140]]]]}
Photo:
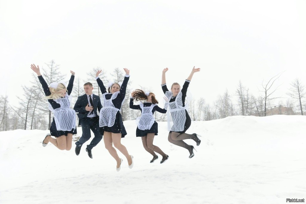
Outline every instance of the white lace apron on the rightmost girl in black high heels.
{"type": "Polygon", "coordinates": [[[171,91],[166,91],[165,95],[168,98],[168,102],[165,104],[165,109],[169,110],[167,111],[168,131],[181,132],[184,130],[186,122],[186,108],[183,107],[182,92],[177,94],[174,102],[169,102],[173,96],[171,91]]]}

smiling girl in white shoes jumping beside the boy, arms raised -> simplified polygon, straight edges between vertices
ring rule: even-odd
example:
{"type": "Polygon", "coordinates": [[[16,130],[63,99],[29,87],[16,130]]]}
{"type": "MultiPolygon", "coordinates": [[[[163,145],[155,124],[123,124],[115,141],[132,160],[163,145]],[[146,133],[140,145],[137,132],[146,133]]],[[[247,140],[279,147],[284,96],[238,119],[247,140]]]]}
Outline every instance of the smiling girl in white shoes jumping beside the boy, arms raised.
{"type": "Polygon", "coordinates": [[[116,147],[128,160],[129,168],[133,167],[133,156],[129,155],[126,147],[121,144],[121,138],[127,134],[123,125],[120,109],[125,98],[126,86],[129,81],[129,69],[124,68],[125,77],[122,84],[111,83],[108,87],[108,93],[103,85],[102,80],[99,78],[99,74],[102,70],[96,73],[96,80],[102,93],[103,108],[100,109],[99,114],[99,126],[100,134],[103,135],[105,148],[110,155],[117,161],[116,170],[120,171],[121,163],[123,159],[119,158],[116,147]],[[114,147],[113,147],[114,143],[114,147]]]}

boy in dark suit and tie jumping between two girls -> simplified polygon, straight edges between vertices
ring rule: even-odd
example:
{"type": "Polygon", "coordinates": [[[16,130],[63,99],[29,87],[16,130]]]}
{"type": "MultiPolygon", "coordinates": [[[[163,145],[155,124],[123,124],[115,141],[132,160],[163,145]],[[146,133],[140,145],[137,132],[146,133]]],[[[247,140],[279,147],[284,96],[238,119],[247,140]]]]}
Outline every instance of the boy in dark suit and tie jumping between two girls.
{"type": "Polygon", "coordinates": [[[92,158],[91,149],[95,147],[102,139],[99,132],[99,112],[102,108],[100,97],[92,93],[92,84],[87,82],[84,84],[85,94],[79,96],[73,107],[78,113],[80,124],[82,126],[82,137],[76,142],[76,155],[80,154],[82,145],[91,137],[90,130],[94,133],[95,137],[91,143],[87,145],[86,151],[88,156],[92,158]],[[98,112],[97,112],[98,109],[98,112]]]}

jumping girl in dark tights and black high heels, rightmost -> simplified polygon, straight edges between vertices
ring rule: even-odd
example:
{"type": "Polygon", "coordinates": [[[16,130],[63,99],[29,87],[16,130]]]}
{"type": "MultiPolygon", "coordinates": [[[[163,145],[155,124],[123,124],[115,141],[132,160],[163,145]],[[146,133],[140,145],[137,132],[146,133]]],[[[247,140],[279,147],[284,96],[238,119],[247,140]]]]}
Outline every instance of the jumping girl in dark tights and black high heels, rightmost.
{"type": "Polygon", "coordinates": [[[191,125],[191,119],[188,115],[185,106],[185,98],[187,94],[187,88],[192,79],[192,76],[195,72],[200,72],[200,68],[195,69],[195,67],[193,67],[190,75],[188,76],[183,85],[182,90],[181,86],[178,83],[173,83],[171,86],[171,91],[168,90],[166,86],[167,71],[168,68],[165,68],[162,71],[162,91],[168,98],[168,102],[165,105],[165,109],[169,106],[168,108],[170,109],[171,113],[171,121],[168,119],[168,127],[170,128],[168,141],[177,146],[184,147],[185,149],[187,149],[190,153],[189,158],[192,158],[194,156],[194,147],[192,145],[186,144],[183,140],[193,139],[196,142],[197,146],[200,145],[201,140],[198,138],[198,135],[196,133],[193,133],[191,135],[185,133],[191,125]]]}

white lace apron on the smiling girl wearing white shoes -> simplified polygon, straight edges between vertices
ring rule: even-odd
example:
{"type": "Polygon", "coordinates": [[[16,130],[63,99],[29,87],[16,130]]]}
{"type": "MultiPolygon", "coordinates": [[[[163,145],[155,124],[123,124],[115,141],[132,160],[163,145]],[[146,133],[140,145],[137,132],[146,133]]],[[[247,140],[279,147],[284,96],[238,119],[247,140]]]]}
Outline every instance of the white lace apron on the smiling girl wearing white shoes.
{"type": "MultiPolygon", "coordinates": [[[[102,105],[103,108],[100,109],[100,115],[99,115],[99,126],[104,127],[112,127],[115,123],[116,114],[118,111],[120,111],[118,108],[116,108],[112,102],[114,98],[118,96],[120,91],[115,92],[110,99],[106,99],[105,95],[107,93],[102,94],[102,105]]],[[[124,100],[122,101],[122,103],[124,100]]],[[[121,103],[121,105],[122,105],[121,103]]]]}

